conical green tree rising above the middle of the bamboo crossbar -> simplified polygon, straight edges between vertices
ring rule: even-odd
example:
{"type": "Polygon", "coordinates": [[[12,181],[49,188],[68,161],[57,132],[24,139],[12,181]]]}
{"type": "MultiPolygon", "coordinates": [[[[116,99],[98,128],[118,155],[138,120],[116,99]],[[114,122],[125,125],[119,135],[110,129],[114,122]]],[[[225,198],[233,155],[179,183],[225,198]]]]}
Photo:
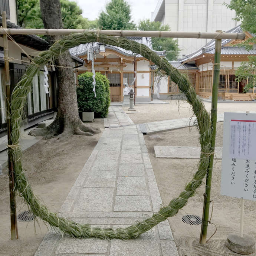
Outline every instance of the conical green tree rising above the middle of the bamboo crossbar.
{"type": "Polygon", "coordinates": [[[106,12],[99,14],[99,28],[113,30],[135,30],[131,21],[131,6],[125,0],[111,0],[106,4],[106,12]]]}

